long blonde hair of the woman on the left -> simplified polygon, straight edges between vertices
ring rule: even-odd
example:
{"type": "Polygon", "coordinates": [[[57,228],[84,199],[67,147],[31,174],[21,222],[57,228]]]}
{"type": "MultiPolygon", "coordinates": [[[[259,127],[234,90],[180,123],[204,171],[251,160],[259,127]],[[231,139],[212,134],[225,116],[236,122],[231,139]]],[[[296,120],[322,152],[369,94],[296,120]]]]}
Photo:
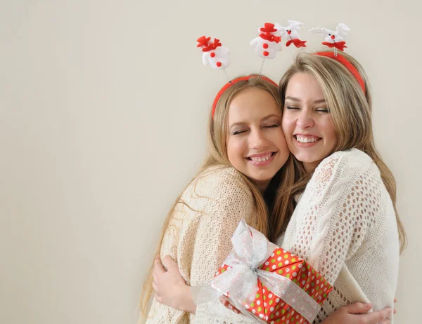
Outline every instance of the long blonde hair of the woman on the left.
{"type": "MultiPolygon", "coordinates": [[[[205,170],[211,168],[211,167],[221,167],[221,168],[227,168],[231,167],[231,163],[229,162],[229,157],[227,155],[227,149],[226,149],[226,137],[227,137],[227,131],[228,131],[228,123],[227,123],[227,116],[229,112],[229,105],[231,103],[231,100],[234,98],[235,95],[240,93],[242,90],[245,90],[246,88],[260,88],[262,90],[266,90],[268,93],[271,94],[272,97],[274,97],[274,100],[276,100],[277,105],[281,109],[281,101],[279,97],[278,87],[269,81],[266,81],[265,79],[262,79],[260,77],[252,77],[248,79],[247,81],[239,81],[237,83],[234,83],[234,85],[229,86],[222,96],[219,98],[217,102],[217,107],[215,109],[215,114],[212,116],[210,114],[209,121],[208,121],[208,127],[207,127],[207,135],[208,135],[208,152],[207,157],[203,161],[202,165],[200,166],[198,173],[196,173],[196,176],[193,177],[193,180],[195,180],[197,177],[203,175],[205,173],[205,170]]],[[[255,224],[250,224],[251,226],[254,226],[258,231],[262,232],[262,234],[269,237],[270,240],[276,239],[276,234],[274,231],[269,230],[269,224],[271,223],[271,228],[274,226],[274,222],[276,220],[279,220],[280,217],[276,217],[275,215],[280,214],[289,214],[291,215],[293,213],[293,205],[291,205],[290,201],[283,201],[281,198],[281,193],[286,190],[287,187],[291,187],[293,183],[295,182],[294,179],[294,172],[293,172],[293,158],[290,156],[288,158],[288,161],[286,162],[285,166],[283,166],[281,172],[281,181],[278,186],[277,194],[274,199],[274,208],[271,208],[271,220],[269,220],[269,210],[267,208],[267,205],[264,202],[264,198],[260,191],[257,189],[255,184],[252,183],[242,173],[239,172],[241,177],[243,177],[243,180],[245,180],[245,183],[248,185],[248,188],[250,189],[255,205],[255,215],[256,215],[256,222],[255,224]]],[[[193,182],[191,180],[191,182],[193,182]]],[[[189,184],[191,184],[189,182],[189,184]]],[[[189,185],[188,184],[188,185],[189,185]]],[[[186,186],[187,187],[187,186],[186,186]]],[[[184,201],[181,200],[181,196],[179,196],[176,201],[174,202],[172,208],[170,209],[170,212],[167,214],[167,217],[165,219],[164,225],[162,227],[162,231],[160,234],[160,243],[158,244],[157,250],[155,250],[155,256],[160,255],[160,249],[162,245],[162,240],[165,236],[165,233],[167,231],[167,228],[170,225],[170,220],[172,220],[172,215],[174,212],[174,208],[178,203],[185,204],[184,201]]],[[[279,226],[280,228],[283,226],[279,226]]],[[[153,271],[153,264],[151,264],[151,268],[148,273],[148,277],[146,278],[146,281],[143,283],[143,291],[141,295],[140,300],[140,306],[141,311],[144,316],[147,314],[147,306],[148,301],[151,297],[151,294],[153,292],[152,289],[152,276],[153,271]]]]}

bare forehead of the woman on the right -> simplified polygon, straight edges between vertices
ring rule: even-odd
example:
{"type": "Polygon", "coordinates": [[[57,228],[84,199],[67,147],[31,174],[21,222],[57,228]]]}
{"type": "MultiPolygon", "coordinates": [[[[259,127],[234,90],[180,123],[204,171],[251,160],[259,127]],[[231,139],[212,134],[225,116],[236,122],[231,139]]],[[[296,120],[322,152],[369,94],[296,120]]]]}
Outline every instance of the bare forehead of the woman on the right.
{"type": "Polygon", "coordinates": [[[324,99],[324,93],[315,76],[305,72],[293,74],[288,81],[285,96],[301,100],[324,99]]]}

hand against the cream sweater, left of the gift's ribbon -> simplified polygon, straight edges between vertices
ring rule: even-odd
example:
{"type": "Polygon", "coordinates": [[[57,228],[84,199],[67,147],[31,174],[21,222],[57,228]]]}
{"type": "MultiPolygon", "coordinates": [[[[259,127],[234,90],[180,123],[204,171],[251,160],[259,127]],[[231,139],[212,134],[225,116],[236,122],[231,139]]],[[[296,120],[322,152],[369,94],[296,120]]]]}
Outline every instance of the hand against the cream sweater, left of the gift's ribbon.
{"type": "Polygon", "coordinates": [[[193,303],[191,288],[186,285],[181,276],[179,266],[170,255],[166,255],[162,261],[167,271],[161,264],[160,257],[155,258],[153,269],[153,289],[155,300],[174,309],[196,312],[196,305],[193,303]]]}

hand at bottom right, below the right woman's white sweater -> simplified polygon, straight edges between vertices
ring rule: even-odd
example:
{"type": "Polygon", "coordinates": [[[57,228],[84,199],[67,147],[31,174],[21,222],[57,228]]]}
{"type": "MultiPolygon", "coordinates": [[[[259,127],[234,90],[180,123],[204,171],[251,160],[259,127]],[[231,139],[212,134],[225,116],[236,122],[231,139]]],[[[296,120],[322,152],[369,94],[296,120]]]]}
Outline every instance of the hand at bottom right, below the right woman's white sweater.
{"type": "Polygon", "coordinates": [[[354,303],[340,307],[321,324],[388,324],[388,317],[392,312],[390,307],[385,307],[381,311],[367,313],[372,308],[371,304],[354,303]]]}

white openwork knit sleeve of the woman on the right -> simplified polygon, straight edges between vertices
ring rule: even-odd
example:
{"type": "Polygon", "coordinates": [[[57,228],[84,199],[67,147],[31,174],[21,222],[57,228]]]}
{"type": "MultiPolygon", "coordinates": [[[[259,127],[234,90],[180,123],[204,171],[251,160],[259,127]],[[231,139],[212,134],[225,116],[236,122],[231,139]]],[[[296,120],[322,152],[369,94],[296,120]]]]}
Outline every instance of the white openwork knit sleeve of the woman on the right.
{"type": "Polygon", "coordinates": [[[372,164],[356,149],[324,159],[286,231],[283,248],[306,259],[331,284],[370,226],[369,213],[378,202],[378,190],[368,176],[372,164]]]}

